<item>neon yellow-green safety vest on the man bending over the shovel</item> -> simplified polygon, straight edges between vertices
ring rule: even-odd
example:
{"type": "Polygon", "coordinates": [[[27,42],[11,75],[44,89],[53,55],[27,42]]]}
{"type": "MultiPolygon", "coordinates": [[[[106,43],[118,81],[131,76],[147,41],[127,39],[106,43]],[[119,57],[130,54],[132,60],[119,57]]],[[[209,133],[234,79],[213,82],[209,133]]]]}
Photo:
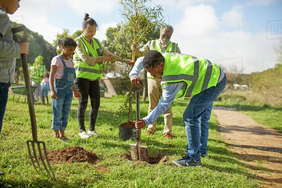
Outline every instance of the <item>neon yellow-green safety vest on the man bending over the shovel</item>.
{"type": "Polygon", "coordinates": [[[162,55],[165,59],[162,89],[164,84],[184,82],[175,98],[190,97],[217,85],[220,68],[208,59],[171,52],[162,55]]]}

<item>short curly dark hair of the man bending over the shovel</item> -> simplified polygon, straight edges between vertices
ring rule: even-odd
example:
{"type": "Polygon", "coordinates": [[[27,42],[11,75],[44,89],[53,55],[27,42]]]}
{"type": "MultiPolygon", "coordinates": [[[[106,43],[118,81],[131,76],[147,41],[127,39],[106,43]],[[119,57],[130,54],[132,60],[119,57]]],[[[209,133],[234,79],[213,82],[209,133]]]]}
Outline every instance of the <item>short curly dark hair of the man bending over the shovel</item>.
{"type": "Polygon", "coordinates": [[[145,54],[142,64],[144,68],[155,68],[162,62],[164,62],[164,56],[157,50],[150,50],[145,54]]]}

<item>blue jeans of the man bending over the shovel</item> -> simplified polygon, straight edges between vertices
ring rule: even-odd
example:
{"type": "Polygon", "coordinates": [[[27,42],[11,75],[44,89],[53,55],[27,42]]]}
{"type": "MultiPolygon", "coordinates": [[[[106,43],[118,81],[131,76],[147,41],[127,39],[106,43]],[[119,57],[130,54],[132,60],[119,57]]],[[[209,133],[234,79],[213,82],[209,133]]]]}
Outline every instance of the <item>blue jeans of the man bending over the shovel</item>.
{"type": "Polygon", "coordinates": [[[226,86],[226,76],[214,87],[194,95],[183,113],[184,128],[188,141],[187,155],[197,160],[207,155],[209,120],[214,100],[226,86]]]}

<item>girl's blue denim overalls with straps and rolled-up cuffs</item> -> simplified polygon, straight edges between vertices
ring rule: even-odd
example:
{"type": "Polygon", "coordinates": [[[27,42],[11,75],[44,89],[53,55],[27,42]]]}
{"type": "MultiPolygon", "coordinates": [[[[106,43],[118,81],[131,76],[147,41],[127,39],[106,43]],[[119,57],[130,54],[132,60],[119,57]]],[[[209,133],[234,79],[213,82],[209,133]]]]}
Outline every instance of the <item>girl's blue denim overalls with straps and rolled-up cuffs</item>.
{"type": "MultiPolygon", "coordinates": [[[[76,78],[75,69],[67,67],[63,58],[59,55],[64,65],[64,74],[60,79],[55,79],[54,88],[58,95],[52,99],[52,130],[65,130],[67,127],[70,105],[72,102],[72,85],[76,78]]],[[[72,60],[70,60],[72,61],[72,60]]]]}

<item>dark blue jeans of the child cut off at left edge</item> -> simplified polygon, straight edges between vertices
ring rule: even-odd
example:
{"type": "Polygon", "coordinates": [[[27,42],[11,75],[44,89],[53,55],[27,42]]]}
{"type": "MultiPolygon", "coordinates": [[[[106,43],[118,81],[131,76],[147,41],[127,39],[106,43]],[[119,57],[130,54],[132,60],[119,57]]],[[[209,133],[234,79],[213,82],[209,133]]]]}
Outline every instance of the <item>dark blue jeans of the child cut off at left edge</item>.
{"type": "Polygon", "coordinates": [[[6,109],[6,104],[8,100],[9,83],[0,82],[0,133],[2,129],[2,123],[4,118],[4,113],[6,109]]]}

